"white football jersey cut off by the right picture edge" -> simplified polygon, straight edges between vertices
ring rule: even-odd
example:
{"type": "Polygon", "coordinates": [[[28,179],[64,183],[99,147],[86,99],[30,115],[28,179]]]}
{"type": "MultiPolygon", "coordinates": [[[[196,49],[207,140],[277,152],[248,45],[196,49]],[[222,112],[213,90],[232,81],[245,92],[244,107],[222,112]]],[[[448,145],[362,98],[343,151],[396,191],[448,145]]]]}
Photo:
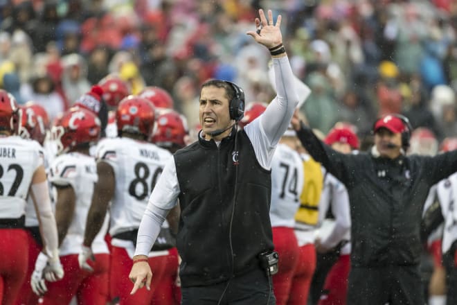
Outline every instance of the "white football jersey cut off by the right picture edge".
{"type": "Polygon", "coordinates": [[[442,231],[442,253],[447,252],[457,240],[457,173],[438,182],[436,187],[442,216],[445,218],[442,231]]]}

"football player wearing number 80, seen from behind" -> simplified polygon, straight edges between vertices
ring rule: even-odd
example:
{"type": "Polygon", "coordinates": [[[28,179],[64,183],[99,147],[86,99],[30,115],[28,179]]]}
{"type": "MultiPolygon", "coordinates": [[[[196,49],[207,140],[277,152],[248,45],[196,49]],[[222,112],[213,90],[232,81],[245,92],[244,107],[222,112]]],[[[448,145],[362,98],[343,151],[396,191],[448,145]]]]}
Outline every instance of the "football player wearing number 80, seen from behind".
{"type": "MultiPolygon", "coordinates": [[[[145,98],[127,96],[118,105],[116,121],[119,138],[103,139],[97,152],[98,182],[87,216],[84,243],[80,253],[80,266],[87,266],[92,242],[110,207],[111,271],[110,297],[121,304],[150,304],[155,286],[150,291],[130,295],[136,236],[147,199],[171,154],[147,140],[154,129],[154,105],[145,98]]],[[[154,284],[161,281],[171,242],[161,236],[154,245],[149,263],[154,270],[154,284]]],[[[170,237],[170,236],[168,236],[170,237]]]]}

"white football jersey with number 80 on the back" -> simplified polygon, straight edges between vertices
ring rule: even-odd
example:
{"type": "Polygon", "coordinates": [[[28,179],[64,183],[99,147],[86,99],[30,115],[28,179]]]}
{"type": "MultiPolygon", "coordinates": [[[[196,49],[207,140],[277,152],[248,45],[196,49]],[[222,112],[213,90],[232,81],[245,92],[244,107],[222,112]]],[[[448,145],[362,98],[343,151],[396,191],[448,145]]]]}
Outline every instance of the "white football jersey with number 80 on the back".
{"type": "Polygon", "coordinates": [[[109,234],[138,229],[152,189],[171,157],[168,150],[126,137],[98,143],[97,161],[107,162],[116,176],[109,234]]]}

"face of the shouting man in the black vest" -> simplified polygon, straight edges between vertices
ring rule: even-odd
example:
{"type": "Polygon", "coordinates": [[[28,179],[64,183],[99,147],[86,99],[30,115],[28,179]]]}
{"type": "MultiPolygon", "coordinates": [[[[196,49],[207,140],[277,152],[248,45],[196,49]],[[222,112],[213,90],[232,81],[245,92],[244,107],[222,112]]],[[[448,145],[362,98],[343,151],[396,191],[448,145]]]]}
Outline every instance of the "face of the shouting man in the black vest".
{"type": "MultiPolygon", "coordinates": [[[[199,118],[206,139],[210,139],[208,132],[222,130],[232,124],[233,120],[230,119],[228,113],[228,98],[224,88],[207,86],[201,89],[199,118]]],[[[227,130],[215,139],[219,141],[230,131],[230,129],[227,130]]]]}

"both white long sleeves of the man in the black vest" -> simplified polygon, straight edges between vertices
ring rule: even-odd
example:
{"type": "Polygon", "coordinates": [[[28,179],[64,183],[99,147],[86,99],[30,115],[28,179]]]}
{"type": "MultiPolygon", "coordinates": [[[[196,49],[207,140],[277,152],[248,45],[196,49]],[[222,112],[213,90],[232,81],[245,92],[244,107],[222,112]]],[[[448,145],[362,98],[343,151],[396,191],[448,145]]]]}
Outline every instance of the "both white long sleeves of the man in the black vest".
{"type": "MultiPolygon", "coordinates": [[[[299,100],[289,59],[274,58],[273,64],[277,96],[262,115],[244,127],[258,162],[267,170],[271,168],[271,159],[278,141],[287,130],[299,100]]],[[[163,168],[163,173],[150,195],[138,229],[135,255],[147,255],[150,252],[165,216],[177,204],[179,193],[176,165],[172,158],[163,168]]]]}

